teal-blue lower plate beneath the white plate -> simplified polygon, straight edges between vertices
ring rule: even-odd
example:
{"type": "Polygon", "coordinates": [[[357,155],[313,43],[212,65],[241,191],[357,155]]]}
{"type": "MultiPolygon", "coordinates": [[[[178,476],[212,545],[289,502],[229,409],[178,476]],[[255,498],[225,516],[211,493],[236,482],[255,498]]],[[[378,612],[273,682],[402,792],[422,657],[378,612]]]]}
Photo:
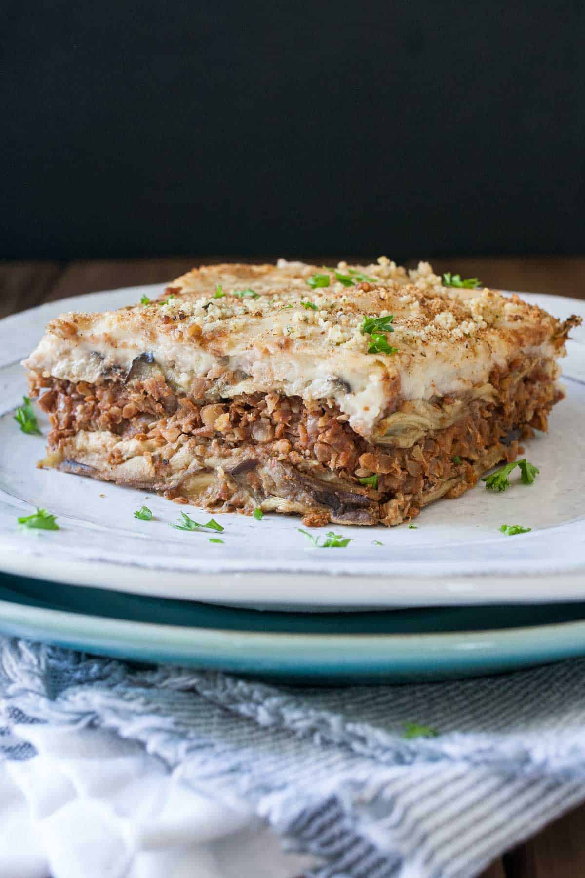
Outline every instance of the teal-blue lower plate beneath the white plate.
{"type": "Polygon", "coordinates": [[[142,662],[316,682],[439,680],[585,654],[585,603],[291,613],[0,577],[0,630],[142,662]]]}

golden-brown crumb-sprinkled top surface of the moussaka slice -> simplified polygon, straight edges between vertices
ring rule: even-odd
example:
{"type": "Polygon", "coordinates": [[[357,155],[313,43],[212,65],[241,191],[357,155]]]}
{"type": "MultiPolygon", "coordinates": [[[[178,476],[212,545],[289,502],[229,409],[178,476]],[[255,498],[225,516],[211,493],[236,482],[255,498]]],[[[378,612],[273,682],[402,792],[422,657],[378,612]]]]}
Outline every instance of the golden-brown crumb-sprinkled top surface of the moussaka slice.
{"type": "MultiPolygon", "coordinates": [[[[223,349],[234,329],[242,331],[244,320],[249,327],[260,330],[260,336],[268,345],[275,343],[275,337],[280,342],[289,342],[289,346],[291,342],[312,338],[332,348],[354,342],[350,349],[366,352],[371,339],[360,331],[364,316],[392,313],[391,341],[399,344],[399,356],[416,356],[417,352],[440,343],[464,346],[472,340],[475,344],[493,341],[496,337],[516,347],[539,345],[547,339],[554,339],[560,345],[569,329],[581,322],[574,316],[561,323],[538,306],[528,305],[517,294],[505,297],[487,288],[449,288],[434,275],[432,283],[424,276],[424,285],[415,277],[378,278],[375,276],[378,266],[360,268],[363,273],[370,272],[367,276],[376,283],[356,281],[348,288],[336,282],[331,273],[327,287],[311,290],[307,284],[309,277],[319,272],[327,274],[317,266],[302,265],[294,274],[274,265],[202,266],[177,278],[150,305],[126,306],[110,313],[106,341],[116,349],[122,337],[120,333],[128,330],[140,332],[146,340],[154,341],[162,335],[204,350],[223,349]],[[218,285],[223,295],[215,299],[218,285]],[[253,289],[256,298],[234,294],[247,289],[253,289]],[[169,299],[171,295],[173,298],[169,299]],[[311,304],[317,302],[320,312],[317,317],[310,313],[311,309],[299,312],[302,321],[296,321],[299,325],[293,326],[288,335],[283,335],[276,326],[269,327],[268,331],[262,327],[262,318],[279,315],[286,306],[297,308],[302,299],[311,304]],[[161,306],[161,303],[167,304],[161,306]],[[330,326],[320,326],[324,320],[330,326]],[[339,327],[343,341],[330,338],[332,334],[328,330],[332,326],[339,327]]],[[[91,313],[63,315],[49,322],[47,332],[75,342],[77,335],[96,327],[96,319],[102,317],[91,313]]],[[[260,342],[260,338],[255,341],[260,342]]]]}

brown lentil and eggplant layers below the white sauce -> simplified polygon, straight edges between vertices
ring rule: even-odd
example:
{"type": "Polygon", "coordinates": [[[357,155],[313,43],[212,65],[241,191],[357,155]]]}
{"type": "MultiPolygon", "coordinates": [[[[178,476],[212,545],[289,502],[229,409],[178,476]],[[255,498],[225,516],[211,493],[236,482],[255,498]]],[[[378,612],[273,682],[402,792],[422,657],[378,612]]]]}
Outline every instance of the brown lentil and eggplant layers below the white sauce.
{"type": "MultiPolygon", "coordinates": [[[[196,399],[160,375],[75,385],[32,373],[31,384],[52,425],[47,465],[215,511],[261,506],[300,513],[309,525],[393,525],[517,457],[518,440],[546,430],[562,396],[555,375],[553,360],[518,357],[492,371],[489,392],[469,399],[455,422],[427,429],[409,447],[367,442],[327,400],[308,407],[277,393],[196,399]]],[[[430,400],[437,421],[453,401],[430,400]]]]}

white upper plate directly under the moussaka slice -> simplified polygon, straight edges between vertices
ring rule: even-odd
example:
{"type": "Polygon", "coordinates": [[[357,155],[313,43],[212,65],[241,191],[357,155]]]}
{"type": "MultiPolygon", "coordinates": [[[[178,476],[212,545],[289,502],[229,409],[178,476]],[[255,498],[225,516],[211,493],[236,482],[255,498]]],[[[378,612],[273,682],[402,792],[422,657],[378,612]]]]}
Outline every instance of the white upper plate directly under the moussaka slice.
{"type": "MultiPolygon", "coordinates": [[[[46,320],[67,310],[137,302],[143,292],[152,297],[161,289],[94,293],[0,322],[1,569],[142,594],[289,608],[585,598],[582,327],[568,345],[567,399],[554,409],[552,433],[528,443],[528,457],[540,469],[532,486],[515,483],[505,493],[492,493],[480,484],[459,500],[425,508],[416,530],[335,526],[352,538],[345,549],[311,548],[298,532],[300,520],[282,515],[266,515],[261,522],[218,516],[225,543],[209,543],[203,534],[169,528],[184,507],[168,500],[37,469],[44,439],[22,434],[12,414],[26,390],[19,360],[38,342],[46,320]],[[153,522],[133,518],[145,502],[153,522]],[[20,531],[17,516],[34,506],[58,515],[61,529],[20,531]],[[532,530],[503,536],[498,530],[503,523],[532,530]]],[[[523,296],[563,318],[585,312],[576,299],[523,296]]],[[[46,429],[43,418],[39,423],[46,429]]],[[[198,521],[209,517],[189,511],[198,521]]]]}

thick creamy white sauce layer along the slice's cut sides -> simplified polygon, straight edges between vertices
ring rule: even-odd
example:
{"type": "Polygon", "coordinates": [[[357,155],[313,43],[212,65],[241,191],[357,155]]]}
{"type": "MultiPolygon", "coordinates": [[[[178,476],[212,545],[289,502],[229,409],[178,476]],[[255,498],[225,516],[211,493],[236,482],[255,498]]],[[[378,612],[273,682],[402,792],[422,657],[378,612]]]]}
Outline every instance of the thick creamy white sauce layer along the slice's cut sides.
{"type": "MultiPolygon", "coordinates": [[[[166,337],[156,344],[149,344],[141,338],[120,337],[118,347],[113,349],[99,341],[96,328],[90,338],[81,337],[76,342],[46,335],[25,361],[25,366],[54,378],[94,384],[103,378],[104,372],[107,377],[112,366],[120,367],[123,372],[129,371],[133,360],[147,351],[165,376],[186,393],[195,378],[203,378],[214,366],[243,371],[250,378],[237,385],[223,386],[224,396],[260,391],[297,395],[305,402],[332,399],[341,412],[348,415],[351,427],[365,436],[372,434],[388,404],[385,381],[388,370],[375,356],[348,351],[332,351],[328,356],[299,352],[293,356],[285,351],[259,357],[253,349],[215,356],[209,351],[178,345],[166,337]]],[[[526,352],[553,356],[550,344],[526,352]]],[[[505,363],[505,354],[503,349],[492,350],[491,356],[466,357],[461,353],[460,357],[453,358],[453,350],[449,351],[449,356],[430,350],[424,363],[406,364],[400,375],[401,396],[404,399],[431,399],[436,395],[469,390],[487,381],[492,367],[505,363]]]]}

